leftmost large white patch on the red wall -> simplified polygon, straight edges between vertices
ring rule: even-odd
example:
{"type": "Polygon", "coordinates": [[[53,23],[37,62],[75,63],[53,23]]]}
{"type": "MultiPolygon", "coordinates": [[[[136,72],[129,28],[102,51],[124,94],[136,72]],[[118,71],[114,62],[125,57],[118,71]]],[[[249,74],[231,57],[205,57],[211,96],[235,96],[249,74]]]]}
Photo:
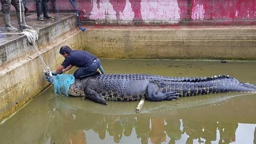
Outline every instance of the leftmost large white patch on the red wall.
{"type": "Polygon", "coordinates": [[[110,3],[110,0],[101,0],[100,7],[97,7],[97,0],[93,0],[93,8],[91,10],[91,19],[107,19],[116,20],[116,11],[110,3]]]}

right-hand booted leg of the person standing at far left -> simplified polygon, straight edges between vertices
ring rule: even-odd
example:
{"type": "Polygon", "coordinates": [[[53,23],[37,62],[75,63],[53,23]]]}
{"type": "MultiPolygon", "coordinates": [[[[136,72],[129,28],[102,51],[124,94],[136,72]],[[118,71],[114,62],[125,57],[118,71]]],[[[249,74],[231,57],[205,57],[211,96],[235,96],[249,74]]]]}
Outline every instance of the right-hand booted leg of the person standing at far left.
{"type": "MultiPolygon", "coordinates": [[[[11,0],[11,4],[14,6],[14,8],[16,9],[16,14],[17,14],[17,18],[18,18],[18,24],[20,24],[20,15],[19,15],[19,0],[11,0]]],[[[27,28],[32,28],[31,26],[28,26],[25,20],[25,14],[24,14],[24,7],[23,4],[21,2],[21,21],[22,21],[22,27],[23,29],[27,29],[27,28]]]]}

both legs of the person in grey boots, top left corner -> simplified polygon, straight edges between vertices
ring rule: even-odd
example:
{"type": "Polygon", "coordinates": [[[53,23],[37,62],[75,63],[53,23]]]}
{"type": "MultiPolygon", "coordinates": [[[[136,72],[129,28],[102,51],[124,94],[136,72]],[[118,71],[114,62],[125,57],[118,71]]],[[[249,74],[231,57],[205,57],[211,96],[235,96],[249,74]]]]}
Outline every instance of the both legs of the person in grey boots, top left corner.
{"type": "MultiPolygon", "coordinates": [[[[19,1],[18,0],[0,0],[1,5],[2,5],[2,16],[5,24],[5,30],[6,31],[18,31],[16,27],[12,27],[10,24],[10,6],[13,5],[14,8],[16,9],[16,14],[18,18],[18,23],[20,23],[20,15],[19,15],[19,1]]],[[[23,4],[21,3],[21,20],[22,20],[22,28],[27,29],[27,28],[32,28],[31,26],[28,26],[26,21],[25,21],[25,14],[24,14],[24,7],[23,4]]]]}

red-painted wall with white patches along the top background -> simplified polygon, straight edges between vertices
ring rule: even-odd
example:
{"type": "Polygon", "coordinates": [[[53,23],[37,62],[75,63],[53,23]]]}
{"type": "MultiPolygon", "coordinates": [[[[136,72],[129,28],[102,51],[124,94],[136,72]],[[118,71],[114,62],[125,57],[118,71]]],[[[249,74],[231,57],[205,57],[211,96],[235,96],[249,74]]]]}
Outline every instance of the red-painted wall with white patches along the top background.
{"type": "MultiPolygon", "coordinates": [[[[255,24],[256,0],[73,0],[84,22],[255,24]]],[[[50,0],[51,12],[74,12],[70,0],[50,0]],[[58,8],[58,9],[57,9],[58,8]]],[[[35,1],[27,0],[29,11],[35,1]]],[[[13,9],[13,8],[12,8],[13,9]]]]}

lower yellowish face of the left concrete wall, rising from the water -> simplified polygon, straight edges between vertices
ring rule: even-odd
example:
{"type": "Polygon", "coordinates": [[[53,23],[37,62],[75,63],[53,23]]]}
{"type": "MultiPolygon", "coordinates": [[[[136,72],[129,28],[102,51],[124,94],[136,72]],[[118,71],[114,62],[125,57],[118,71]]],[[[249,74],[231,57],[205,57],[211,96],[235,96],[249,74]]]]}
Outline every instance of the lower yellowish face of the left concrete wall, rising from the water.
{"type": "MultiPolygon", "coordinates": [[[[59,48],[62,45],[70,45],[79,49],[82,47],[77,42],[79,39],[74,35],[57,45],[46,47],[46,51],[41,51],[46,64],[55,69],[64,60],[59,54],[59,48]]],[[[49,86],[39,57],[37,54],[30,57],[31,60],[21,60],[13,65],[13,69],[0,73],[0,121],[17,112],[49,86]]]]}

